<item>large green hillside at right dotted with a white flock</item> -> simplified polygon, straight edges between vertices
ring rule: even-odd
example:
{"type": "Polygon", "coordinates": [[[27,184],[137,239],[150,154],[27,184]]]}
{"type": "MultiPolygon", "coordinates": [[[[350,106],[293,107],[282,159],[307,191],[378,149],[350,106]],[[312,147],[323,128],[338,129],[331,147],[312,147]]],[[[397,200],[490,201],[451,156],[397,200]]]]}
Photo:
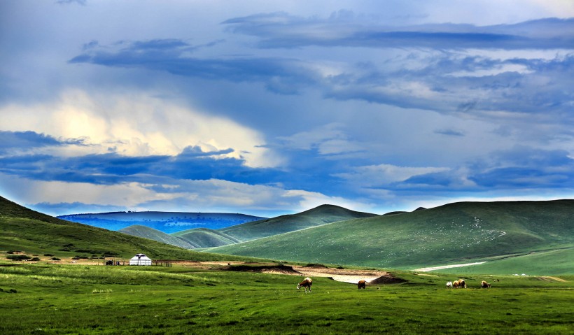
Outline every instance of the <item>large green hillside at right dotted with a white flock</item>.
{"type": "MultiPolygon", "coordinates": [[[[461,202],[325,224],[211,251],[414,269],[574,246],[574,201],[461,202]]],[[[570,268],[568,273],[573,273],[570,268]]]]}

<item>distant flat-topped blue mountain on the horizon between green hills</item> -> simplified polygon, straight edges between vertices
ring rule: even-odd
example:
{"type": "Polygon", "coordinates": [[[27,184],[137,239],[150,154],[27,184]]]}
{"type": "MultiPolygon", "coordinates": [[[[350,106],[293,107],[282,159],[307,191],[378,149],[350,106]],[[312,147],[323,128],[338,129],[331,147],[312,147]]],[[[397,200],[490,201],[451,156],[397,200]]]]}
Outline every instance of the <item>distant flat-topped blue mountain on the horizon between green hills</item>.
{"type": "Polygon", "coordinates": [[[163,231],[167,234],[193,228],[221,229],[236,224],[267,219],[239,213],[186,212],[86,213],[60,215],[57,218],[113,231],[139,224],[163,231]]]}

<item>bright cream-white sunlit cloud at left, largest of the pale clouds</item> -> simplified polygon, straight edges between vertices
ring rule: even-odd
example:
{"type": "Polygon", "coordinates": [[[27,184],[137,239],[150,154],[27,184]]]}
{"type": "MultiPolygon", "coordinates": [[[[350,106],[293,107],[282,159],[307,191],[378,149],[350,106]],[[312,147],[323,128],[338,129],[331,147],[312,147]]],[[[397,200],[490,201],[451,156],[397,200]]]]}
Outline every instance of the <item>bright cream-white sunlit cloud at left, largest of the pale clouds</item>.
{"type": "Polygon", "coordinates": [[[48,155],[179,155],[184,148],[195,146],[241,159],[248,166],[275,166],[280,162],[262,147],[265,139],[258,131],[148,94],[87,94],[73,90],[63,92],[54,102],[3,106],[0,113],[5,121],[0,130],[69,138],[61,140],[68,144],[69,151],[43,152],[48,155]],[[83,146],[78,148],[79,144],[83,146]]]}

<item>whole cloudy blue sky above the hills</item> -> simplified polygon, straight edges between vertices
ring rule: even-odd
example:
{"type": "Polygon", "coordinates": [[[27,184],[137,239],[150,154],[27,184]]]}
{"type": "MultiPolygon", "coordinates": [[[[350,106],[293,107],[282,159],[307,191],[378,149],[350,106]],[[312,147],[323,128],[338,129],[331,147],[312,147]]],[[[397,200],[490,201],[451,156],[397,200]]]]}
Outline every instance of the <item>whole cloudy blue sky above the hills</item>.
{"type": "Polygon", "coordinates": [[[0,50],[50,215],[574,197],[574,1],[0,0],[0,50]]]}

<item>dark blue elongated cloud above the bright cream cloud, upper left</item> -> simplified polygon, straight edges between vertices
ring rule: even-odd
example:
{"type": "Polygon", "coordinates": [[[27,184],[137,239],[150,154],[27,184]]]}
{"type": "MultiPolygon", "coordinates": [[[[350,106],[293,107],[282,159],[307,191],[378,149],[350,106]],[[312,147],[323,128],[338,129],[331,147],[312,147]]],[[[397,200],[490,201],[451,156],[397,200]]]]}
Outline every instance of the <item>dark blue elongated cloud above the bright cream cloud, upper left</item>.
{"type": "Polygon", "coordinates": [[[309,66],[299,59],[191,57],[197,48],[200,46],[175,39],[122,41],[107,46],[90,43],[90,48],[70,59],[69,63],[165,71],[209,80],[265,83],[269,90],[281,94],[297,94],[302,87],[315,81],[309,66]]]}

